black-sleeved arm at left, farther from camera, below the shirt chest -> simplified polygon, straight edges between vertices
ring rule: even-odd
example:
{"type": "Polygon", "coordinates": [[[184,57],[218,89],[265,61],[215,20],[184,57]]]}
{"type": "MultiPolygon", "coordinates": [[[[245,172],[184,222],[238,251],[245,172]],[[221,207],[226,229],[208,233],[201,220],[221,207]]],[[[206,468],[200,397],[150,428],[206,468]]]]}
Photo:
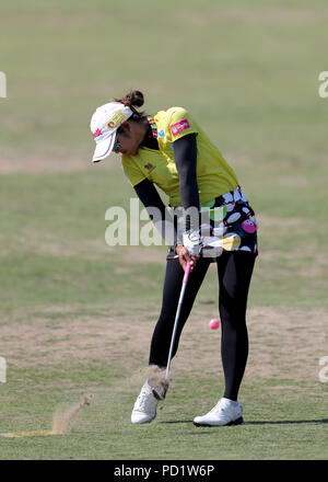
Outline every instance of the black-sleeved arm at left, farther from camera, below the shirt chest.
{"type": "Polygon", "coordinates": [[[134,191],[162,238],[168,244],[174,244],[176,240],[174,221],[153,183],[145,179],[134,186],[134,191]]]}

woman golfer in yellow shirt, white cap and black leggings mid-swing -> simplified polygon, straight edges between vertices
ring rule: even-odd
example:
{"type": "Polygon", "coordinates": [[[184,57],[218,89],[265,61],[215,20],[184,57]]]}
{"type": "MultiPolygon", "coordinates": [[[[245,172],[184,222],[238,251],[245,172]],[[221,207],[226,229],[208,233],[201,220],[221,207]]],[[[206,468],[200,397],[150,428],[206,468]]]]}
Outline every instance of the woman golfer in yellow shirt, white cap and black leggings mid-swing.
{"type": "MultiPolygon", "coordinates": [[[[93,161],[105,159],[112,151],[120,153],[125,174],[151,219],[163,237],[174,237],[166,257],[162,309],[149,364],[159,370],[167,365],[186,263],[190,263],[191,273],[173,356],[209,265],[215,262],[225,388],[216,405],[206,415],[196,416],[194,423],[239,424],[243,409],[237,397],[248,355],[247,295],[258,254],[255,214],[235,172],[188,111],[171,107],[144,115],[136,108],[142,105],[139,91],[116,99],[96,110],[91,130],[96,142],[93,161]],[[155,185],[169,197],[171,213],[174,210],[172,230],[167,228],[169,209],[155,185]]],[[[150,383],[145,381],[136,401],[131,415],[134,424],[149,423],[156,416],[157,399],[150,383]]]]}

